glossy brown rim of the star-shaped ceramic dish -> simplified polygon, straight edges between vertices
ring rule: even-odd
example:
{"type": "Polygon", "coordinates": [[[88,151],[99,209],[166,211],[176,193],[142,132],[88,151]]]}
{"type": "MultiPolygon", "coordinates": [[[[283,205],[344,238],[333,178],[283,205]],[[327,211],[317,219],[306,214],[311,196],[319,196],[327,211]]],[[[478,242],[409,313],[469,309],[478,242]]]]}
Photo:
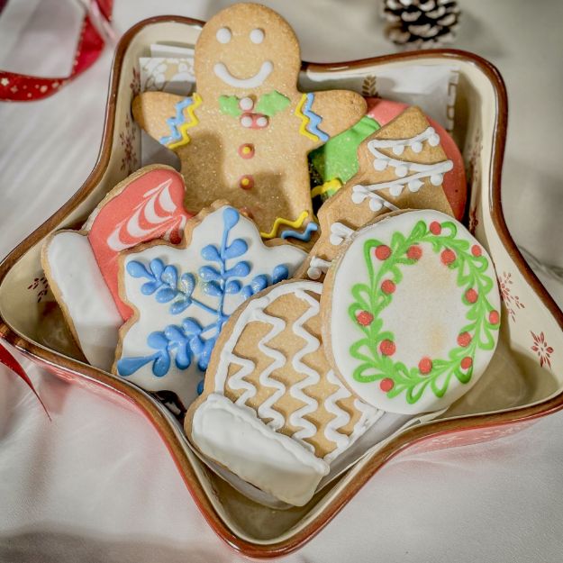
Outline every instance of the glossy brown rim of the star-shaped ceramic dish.
{"type": "MultiPolygon", "coordinates": [[[[123,35],[114,55],[109,95],[105,112],[104,134],[100,153],[95,163],[95,168],[87,177],[84,185],[80,187],[77,193],[73,195],[68,202],[59,209],[59,211],[54,213],[46,222],[43,222],[38,229],[32,232],[29,237],[27,237],[6,256],[0,264],[0,284],[14,263],[20,259],[27,250],[32,248],[34,244],[41,241],[45,235],[52,231],[59,222],[70,211],[72,211],[87,194],[90,193],[90,191],[102,178],[112,151],[115,103],[125,51],[129,47],[132,38],[140,32],[142,28],[153,23],[165,22],[184,23],[200,27],[204,24],[204,22],[191,18],[164,15],[137,23],[123,35]]],[[[486,61],[486,59],[482,59],[473,53],[461,50],[415,51],[341,63],[317,64],[304,62],[303,68],[313,71],[342,70],[390,61],[418,59],[421,55],[439,59],[450,59],[452,61],[469,61],[479,68],[493,84],[495,89],[495,102],[497,104],[497,119],[495,123],[492,146],[492,166],[489,177],[489,183],[492,186],[489,199],[492,220],[505,250],[513,259],[513,262],[522,273],[526,282],[540,297],[542,304],[547,307],[549,313],[551,313],[558,322],[559,327],[563,329],[563,313],[561,313],[558,305],[553,301],[547,290],[541,285],[540,280],[535,276],[526,261],[522,258],[520,251],[517,249],[510,233],[508,232],[506,222],[504,221],[501,203],[501,172],[504,157],[504,144],[506,140],[507,98],[504,81],[498,70],[491,63],[486,61]]],[[[549,413],[554,413],[563,408],[562,391],[550,399],[531,406],[523,406],[502,413],[473,414],[449,421],[440,420],[428,422],[425,425],[413,428],[412,430],[397,436],[394,440],[391,440],[383,449],[379,450],[377,454],[369,459],[366,467],[362,468],[359,475],[355,477],[349,486],[336,495],[331,501],[331,504],[324,508],[322,512],[318,514],[313,521],[309,522],[301,531],[298,531],[286,540],[279,541],[274,544],[262,545],[242,540],[233,534],[222,521],[219,514],[215,512],[213,505],[210,503],[202,486],[199,484],[199,480],[194,469],[184,455],[177,437],[171,430],[167,419],[163,413],[159,411],[159,408],[155,406],[152,399],[150,399],[147,395],[129,385],[126,385],[123,381],[120,381],[118,378],[110,376],[103,371],[92,368],[86,364],[82,364],[77,360],[68,359],[56,352],[47,350],[32,341],[28,341],[10,329],[1,316],[0,337],[13,344],[15,348],[40,363],[43,367],[59,373],[60,376],[67,378],[69,376],[78,376],[78,380],[83,379],[86,384],[89,383],[95,386],[103,386],[115,394],[121,395],[124,400],[134,404],[136,408],[140,409],[141,413],[149,419],[150,423],[159,432],[160,437],[165,442],[190,494],[195,500],[195,504],[204,514],[205,520],[210,524],[213,531],[215,531],[215,533],[217,533],[217,535],[219,535],[222,540],[226,541],[233,549],[237,549],[252,558],[274,558],[284,556],[301,547],[306,541],[311,540],[313,536],[321,531],[322,528],[324,528],[324,526],[341,511],[341,508],[347,504],[354,495],[356,495],[359,489],[368,482],[368,479],[372,477],[377,470],[383,467],[384,464],[386,464],[390,459],[393,459],[397,454],[404,451],[404,449],[409,448],[415,443],[427,440],[431,437],[456,431],[471,431],[486,428],[488,426],[508,425],[514,422],[531,421],[532,419],[539,418],[540,416],[544,416],[549,413]]]]}

